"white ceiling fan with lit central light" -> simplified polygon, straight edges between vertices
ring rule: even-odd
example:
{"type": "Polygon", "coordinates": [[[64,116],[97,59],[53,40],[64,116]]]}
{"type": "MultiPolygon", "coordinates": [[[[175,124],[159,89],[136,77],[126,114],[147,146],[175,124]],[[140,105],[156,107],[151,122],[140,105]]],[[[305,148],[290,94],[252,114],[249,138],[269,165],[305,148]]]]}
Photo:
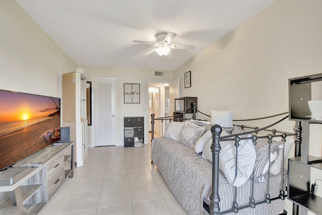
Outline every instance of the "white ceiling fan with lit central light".
{"type": "Polygon", "coordinates": [[[170,45],[170,42],[173,38],[177,36],[176,33],[168,32],[168,34],[158,34],[156,36],[156,43],[153,42],[146,42],[146,41],[140,41],[140,40],[133,40],[135,43],[143,43],[143,44],[149,44],[153,46],[157,46],[157,48],[153,49],[153,51],[156,51],[160,56],[167,56],[172,48],[176,49],[195,49],[195,45],[170,45]]]}

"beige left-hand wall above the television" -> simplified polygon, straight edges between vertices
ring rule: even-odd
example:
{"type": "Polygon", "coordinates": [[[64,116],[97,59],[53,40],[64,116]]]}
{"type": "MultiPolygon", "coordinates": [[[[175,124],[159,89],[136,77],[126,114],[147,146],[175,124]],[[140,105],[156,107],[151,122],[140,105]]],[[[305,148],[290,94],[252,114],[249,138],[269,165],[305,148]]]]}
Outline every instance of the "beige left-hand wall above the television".
{"type": "Polygon", "coordinates": [[[61,98],[70,57],[15,1],[0,1],[0,29],[0,89],[61,98]]]}

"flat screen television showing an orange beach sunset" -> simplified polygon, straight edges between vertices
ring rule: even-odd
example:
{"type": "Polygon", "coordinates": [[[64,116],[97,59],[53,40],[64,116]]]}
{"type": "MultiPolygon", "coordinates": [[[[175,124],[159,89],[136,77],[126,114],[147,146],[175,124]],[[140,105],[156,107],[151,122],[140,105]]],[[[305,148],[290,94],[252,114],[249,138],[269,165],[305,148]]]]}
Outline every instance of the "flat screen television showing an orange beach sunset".
{"type": "Polygon", "coordinates": [[[0,170],[60,138],[60,98],[0,90],[0,170]]]}

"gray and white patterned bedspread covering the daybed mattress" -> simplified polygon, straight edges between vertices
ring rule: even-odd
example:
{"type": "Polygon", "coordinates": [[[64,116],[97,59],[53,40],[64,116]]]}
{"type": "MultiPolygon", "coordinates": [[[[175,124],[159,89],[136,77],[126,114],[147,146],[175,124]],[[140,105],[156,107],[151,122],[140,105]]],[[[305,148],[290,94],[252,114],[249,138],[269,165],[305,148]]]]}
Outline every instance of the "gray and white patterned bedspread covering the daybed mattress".
{"type": "MultiPolygon", "coordinates": [[[[205,198],[206,202],[209,201],[211,192],[211,163],[198,157],[193,148],[166,137],[158,137],[152,140],[151,160],[158,167],[158,171],[169,189],[188,214],[201,215],[203,199],[205,198]]],[[[271,177],[272,188],[270,188],[270,193],[277,193],[278,195],[280,190],[278,184],[281,177],[281,175],[271,177]]],[[[238,187],[238,205],[248,204],[251,182],[252,180],[248,180],[244,185],[238,187]]],[[[220,211],[231,208],[233,190],[234,187],[219,171],[220,211]]],[[[264,200],[267,192],[266,182],[256,183],[255,191],[255,200],[264,200]]],[[[276,196],[271,195],[271,197],[276,196]]],[[[283,201],[279,199],[272,201],[270,204],[257,205],[254,209],[240,210],[238,214],[278,214],[282,206],[283,201]]]]}

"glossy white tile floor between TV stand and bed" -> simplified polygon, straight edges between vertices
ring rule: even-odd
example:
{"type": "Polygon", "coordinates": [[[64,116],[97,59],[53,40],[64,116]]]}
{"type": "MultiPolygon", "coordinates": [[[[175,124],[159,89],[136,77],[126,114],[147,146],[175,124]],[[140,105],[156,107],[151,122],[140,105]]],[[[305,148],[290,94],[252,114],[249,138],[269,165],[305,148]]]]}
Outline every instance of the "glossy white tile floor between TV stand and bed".
{"type": "Polygon", "coordinates": [[[83,167],[74,169],[41,215],[187,214],[154,164],[151,146],[89,149],[83,167]]]}

